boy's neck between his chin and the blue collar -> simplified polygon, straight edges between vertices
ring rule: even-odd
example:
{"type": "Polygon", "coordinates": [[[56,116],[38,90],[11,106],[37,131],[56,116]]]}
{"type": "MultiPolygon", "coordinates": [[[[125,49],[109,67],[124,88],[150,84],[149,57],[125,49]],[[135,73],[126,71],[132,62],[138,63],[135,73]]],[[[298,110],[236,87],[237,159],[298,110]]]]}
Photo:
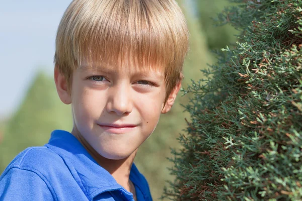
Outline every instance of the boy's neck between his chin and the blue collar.
{"type": "Polygon", "coordinates": [[[85,147],[88,153],[97,161],[97,163],[106,169],[118,184],[123,186],[129,192],[133,191],[133,185],[129,179],[131,166],[136,155],[137,149],[127,158],[112,160],[101,156],[93,147],[82,137],[77,129],[72,129],[71,134],[75,136],[85,147]]]}

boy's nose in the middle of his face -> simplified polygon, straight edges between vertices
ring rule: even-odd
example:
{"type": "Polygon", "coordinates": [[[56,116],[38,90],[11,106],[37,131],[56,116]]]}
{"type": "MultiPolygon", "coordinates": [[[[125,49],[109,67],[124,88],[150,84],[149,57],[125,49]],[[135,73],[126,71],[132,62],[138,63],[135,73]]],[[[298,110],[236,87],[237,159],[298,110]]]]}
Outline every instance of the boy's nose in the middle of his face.
{"type": "Polygon", "coordinates": [[[132,112],[132,97],[126,84],[111,86],[109,89],[107,112],[121,116],[132,112]]]}

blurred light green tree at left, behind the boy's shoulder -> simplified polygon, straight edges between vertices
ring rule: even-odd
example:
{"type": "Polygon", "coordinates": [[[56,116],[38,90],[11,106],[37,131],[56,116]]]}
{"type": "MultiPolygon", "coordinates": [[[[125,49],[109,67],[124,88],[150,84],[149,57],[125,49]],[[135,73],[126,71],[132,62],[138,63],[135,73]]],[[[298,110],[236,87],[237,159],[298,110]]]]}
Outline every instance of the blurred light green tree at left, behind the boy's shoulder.
{"type": "Polygon", "coordinates": [[[70,130],[71,123],[71,110],[60,102],[53,79],[39,73],[4,132],[0,172],[19,152],[47,143],[52,130],[70,130]]]}

